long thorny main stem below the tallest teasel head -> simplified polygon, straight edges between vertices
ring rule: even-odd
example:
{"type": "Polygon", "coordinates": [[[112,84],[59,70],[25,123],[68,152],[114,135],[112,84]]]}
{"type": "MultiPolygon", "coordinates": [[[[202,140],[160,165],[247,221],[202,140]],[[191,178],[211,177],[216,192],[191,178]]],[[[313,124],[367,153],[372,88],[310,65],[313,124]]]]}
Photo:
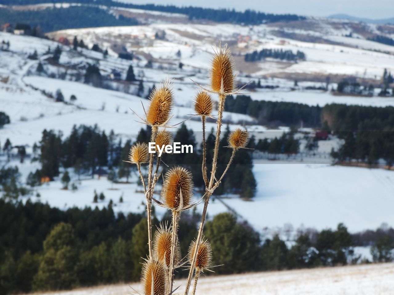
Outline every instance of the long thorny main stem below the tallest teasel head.
{"type": "Polygon", "coordinates": [[[209,199],[210,199],[210,196],[212,195],[213,190],[218,185],[218,183],[216,183],[216,185],[214,186],[214,179],[215,179],[216,164],[217,164],[217,153],[219,151],[221,120],[223,117],[225,98],[226,98],[226,94],[219,93],[219,110],[218,110],[218,114],[217,114],[216,140],[215,140],[214,158],[212,160],[211,178],[210,178],[208,187],[205,188],[206,196],[205,196],[205,201],[204,201],[204,208],[203,208],[203,213],[201,214],[201,222],[200,222],[200,227],[199,227],[199,231],[198,231],[198,235],[197,235],[197,239],[196,239],[196,247],[194,249],[193,258],[191,260],[189,276],[188,276],[188,280],[186,282],[186,288],[185,288],[184,295],[188,295],[189,289],[190,289],[190,284],[191,284],[191,279],[193,278],[194,268],[195,268],[195,264],[196,264],[196,260],[197,260],[197,253],[199,251],[199,248],[201,245],[201,238],[203,236],[205,216],[206,216],[206,210],[208,207],[209,199]]]}

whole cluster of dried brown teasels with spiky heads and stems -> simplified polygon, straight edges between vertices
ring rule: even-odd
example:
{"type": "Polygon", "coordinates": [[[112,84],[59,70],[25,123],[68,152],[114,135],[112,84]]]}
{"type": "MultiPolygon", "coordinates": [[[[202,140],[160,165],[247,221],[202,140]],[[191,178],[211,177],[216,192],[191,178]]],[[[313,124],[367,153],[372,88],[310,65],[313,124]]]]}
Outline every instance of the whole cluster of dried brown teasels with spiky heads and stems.
{"type": "MultiPolygon", "coordinates": [[[[242,129],[233,131],[229,138],[229,147],[232,148],[232,156],[227,164],[225,171],[220,177],[216,175],[217,161],[219,156],[219,142],[221,135],[221,125],[223,118],[223,111],[225,106],[226,96],[230,94],[238,94],[242,88],[236,88],[235,81],[236,74],[234,72],[234,61],[230,49],[221,46],[214,50],[212,57],[209,78],[209,89],[200,86],[200,91],[195,96],[194,111],[195,116],[201,116],[203,125],[203,162],[202,175],[205,183],[205,194],[201,199],[204,199],[203,212],[201,214],[201,222],[199,231],[195,241],[191,243],[189,248],[188,260],[190,262],[188,280],[184,295],[188,295],[191,280],[195,275],[195,283],[193,294],[196,289],[197,280],[204,269],[211,267],[212,249],[210,243],[203,238],[204,222],[210,196],[214,190],[219,186],[225,173],[227,172],[234,154],[240,148],[246,148],[248,135],[242,129]],[[205,119],[206,117],[214,118],[214,103],[211,94],[216,94],[219,97],[219,105],[217,110],[216,120],[216,140],[214,145],[214,155],[212,157],[212,170],[210,177],[206,167],[206,145],[205,145],[205,119]]],[[[149,106],[147,111],[143,108],[145,116],[139,117],[143,124],[147,124],[152,129],[151,142],[156,144],[167,145],[172,141],[171,134],[162,128],[172,128],[176,125],[168,125],[171,120],[171,111],[173,109],[174,97],[172,83],[167,79],[154,90],[149,98],[149,106]],[[160,130],[159,130],[160,129],[160,130]]],[[[216,114],[215,114],[216,115],[216,114]]],[[[181,122],[182,123],[182,122],[181,122]]],[[[145,184],[144,177],[139,168],[141,182],[144,186],[146,204],[147,204],[147,222],[148,222],[148,245],[149,256],[143,265],[141,275],[141,284],[144,295],[171,295],[173,290],[174,269],[180,266],[180,252],[178,242],[178,225],[180,214],[184,210],[188,210],[199,202],[192,203],[193,181],[190,171],[182,167],[174,167],[169,169],[165,174],[164,182],[161,192],[161,201],[152,197],[153,190],[158,181],[161,172],[159,173],[161,157],[158,153],[149,153],[146,144],[136,144],[130,151],[130,159],[127,162],[137,164],[138,168],[142,163],[149,162],[148,167],[148,181],[145,184]],[[154,171],[154,160],[156,159],[156,170],[154,171]],[[158,205],[164,206],[172,212],[172,225],[170,228],[160,227],[156,232],[154,239],[152,239],[152,221],[151,221],[151,206],[152,200],[158,205]],[[153,242],[152,242],[153,240],[153,242]]]]}

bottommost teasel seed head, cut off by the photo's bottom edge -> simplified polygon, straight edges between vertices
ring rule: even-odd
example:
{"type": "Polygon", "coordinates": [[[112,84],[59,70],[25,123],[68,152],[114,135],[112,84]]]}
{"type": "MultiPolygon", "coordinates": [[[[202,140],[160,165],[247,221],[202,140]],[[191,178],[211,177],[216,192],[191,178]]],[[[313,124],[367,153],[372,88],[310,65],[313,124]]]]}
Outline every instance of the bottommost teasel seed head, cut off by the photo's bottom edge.
{"type": "Polygon", "coordinates": [[[141,285],[143,295],[165,295],[167,289],[167,267],[157,257],[142,264],[141,285]],[[153,293],[152,293],[153,281],[153,293]]]}

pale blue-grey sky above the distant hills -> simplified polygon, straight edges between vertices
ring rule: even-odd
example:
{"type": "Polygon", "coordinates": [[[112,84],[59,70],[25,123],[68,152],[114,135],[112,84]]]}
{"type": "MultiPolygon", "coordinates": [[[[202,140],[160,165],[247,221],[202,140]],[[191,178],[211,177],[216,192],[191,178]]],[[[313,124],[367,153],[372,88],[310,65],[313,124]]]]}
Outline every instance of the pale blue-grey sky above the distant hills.
{"type": "Polygon", "coordinates": [[[327,17],[329,15],[344,13],[363,18],[392,18],[394,17],[393,0],[120,0],[135,4],[174,4],[177,6],[200,6],[212,8],[235,8],[237,10],[255,9],[268,13],[294,13],[297,15],[327,17]]]}

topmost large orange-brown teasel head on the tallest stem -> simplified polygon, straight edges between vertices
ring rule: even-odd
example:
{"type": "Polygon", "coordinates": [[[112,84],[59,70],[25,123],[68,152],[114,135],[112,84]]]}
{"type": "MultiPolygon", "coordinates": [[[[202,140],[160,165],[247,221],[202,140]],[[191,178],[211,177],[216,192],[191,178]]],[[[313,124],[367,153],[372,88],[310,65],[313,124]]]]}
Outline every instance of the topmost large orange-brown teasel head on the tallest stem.
{"type": "Polygon", "coordinates": [[[223,90],[225,93],[233,92],[235,89],[234,59],[227,44],[216,49],[212,57],[210,67],[211,89],[220,92],[223,79],[223,90]]]}

